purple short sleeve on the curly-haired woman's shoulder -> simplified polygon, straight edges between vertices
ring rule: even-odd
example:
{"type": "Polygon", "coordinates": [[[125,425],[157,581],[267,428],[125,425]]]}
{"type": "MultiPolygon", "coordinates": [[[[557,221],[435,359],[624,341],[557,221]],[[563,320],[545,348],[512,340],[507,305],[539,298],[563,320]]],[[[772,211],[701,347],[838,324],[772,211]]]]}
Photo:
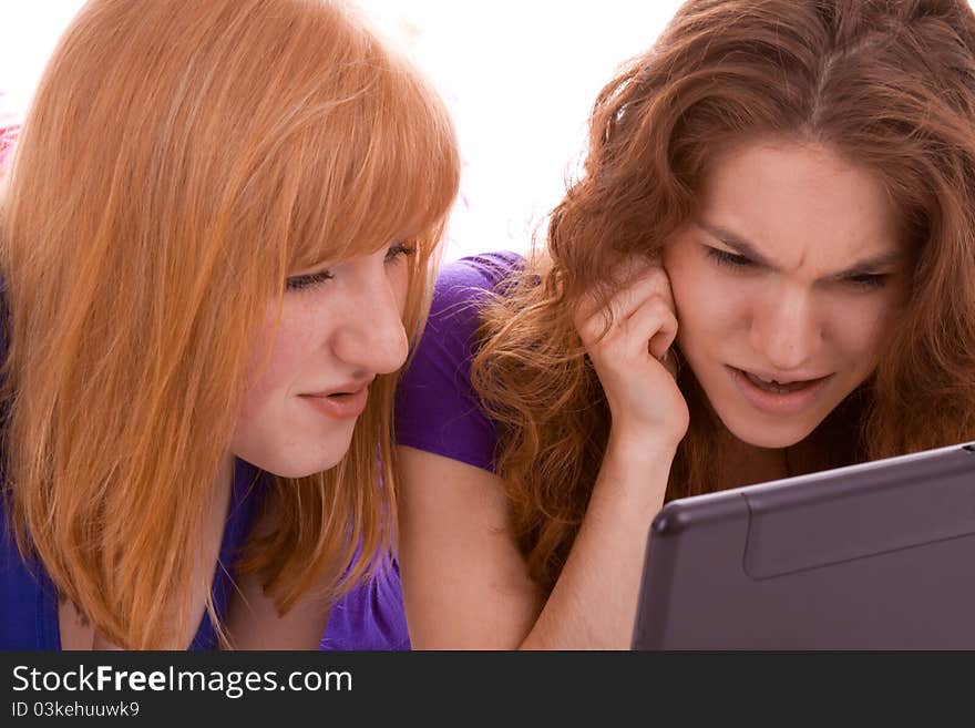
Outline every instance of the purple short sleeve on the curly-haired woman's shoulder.
{"type": "Polygon", "coordinates": [[[521,262],[516,253],[485,253],[443,266],[427,328],[397,391],[397,444],[494,471],[497,434],[471,384],[471,361],[484,294],[521,262]]]}

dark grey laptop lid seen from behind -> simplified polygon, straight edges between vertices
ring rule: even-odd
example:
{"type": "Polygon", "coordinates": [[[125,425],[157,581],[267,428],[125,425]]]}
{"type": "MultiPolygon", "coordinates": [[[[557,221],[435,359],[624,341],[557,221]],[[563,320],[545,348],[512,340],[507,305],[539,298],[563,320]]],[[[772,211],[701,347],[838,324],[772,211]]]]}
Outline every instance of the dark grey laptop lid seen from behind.
{"type": "Polygon", "coordinates": [[[675,500],[633,649],[975,649],[975,443],[675,500]]]}

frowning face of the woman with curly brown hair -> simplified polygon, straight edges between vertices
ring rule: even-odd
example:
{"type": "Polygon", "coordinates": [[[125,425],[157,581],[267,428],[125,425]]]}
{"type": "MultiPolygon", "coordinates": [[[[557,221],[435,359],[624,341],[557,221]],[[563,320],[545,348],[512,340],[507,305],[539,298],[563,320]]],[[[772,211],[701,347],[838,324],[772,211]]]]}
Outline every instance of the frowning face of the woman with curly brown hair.
{"type": "Polygon", "coordinates": [[[880,183],[830,148],[719,157],[664,250],[677,342],[739,440],[804,439],[874,370],[909,262],[880,183]]]}

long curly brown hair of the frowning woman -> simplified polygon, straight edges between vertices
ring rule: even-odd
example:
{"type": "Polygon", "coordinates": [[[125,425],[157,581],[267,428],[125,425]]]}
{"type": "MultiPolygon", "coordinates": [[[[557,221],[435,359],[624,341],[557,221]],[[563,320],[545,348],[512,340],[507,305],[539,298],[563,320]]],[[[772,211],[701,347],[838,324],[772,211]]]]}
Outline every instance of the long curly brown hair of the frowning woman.
{"type": "MultiPolygon", "coordinates": [[[[975,438],[975,16],[963,0],[689,0],[596,100],[579,178],[534,256],[481,315],[474,384],[532,577],[551,588],[609,432],[573,326],[625,256],[695,214],[723,150],[815,141],[874,172],[914,255],[910,305],[874,375],[797,447],[790,472],[975,438]],[[811,445],[815,447],[811,447],[811,445]]],[[[667,499],[727,486],[692,372],[667,499]]]]}

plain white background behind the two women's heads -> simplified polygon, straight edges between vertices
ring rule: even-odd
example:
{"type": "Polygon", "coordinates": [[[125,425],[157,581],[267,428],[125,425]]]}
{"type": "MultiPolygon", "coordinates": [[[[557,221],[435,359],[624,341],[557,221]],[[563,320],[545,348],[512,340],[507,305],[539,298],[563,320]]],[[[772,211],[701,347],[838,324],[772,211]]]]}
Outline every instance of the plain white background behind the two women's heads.
{"type": "MultiPolygon", "coordinates": [[[[205,1],[205,0],[201,0],[205,1]]],[[[0,125],[22,119],[82,0],[0,0],[0,125]]],[[[448,102],[464,160],[448,259],[516,249],[564,189],[585,121],[618,63],[676,0],[359,0],[448,102]]]]}

